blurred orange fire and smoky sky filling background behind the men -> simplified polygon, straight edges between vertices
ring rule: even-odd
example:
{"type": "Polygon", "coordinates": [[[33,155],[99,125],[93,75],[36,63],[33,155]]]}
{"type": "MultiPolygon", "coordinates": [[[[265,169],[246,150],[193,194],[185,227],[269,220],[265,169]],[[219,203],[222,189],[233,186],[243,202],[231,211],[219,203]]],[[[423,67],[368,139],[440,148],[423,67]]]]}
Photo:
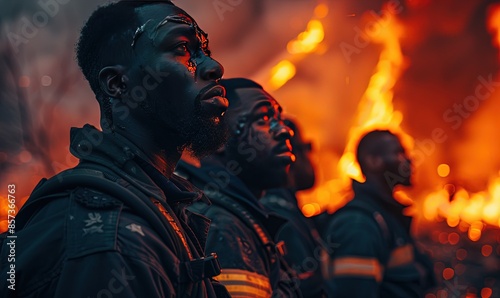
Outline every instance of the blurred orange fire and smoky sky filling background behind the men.
{"type": "MultiPolygon", "coordinates": [[[[0,2],[0,181],[17,207],[76,164],[69,128],[98,125],[74,61],[78,30],[105,1],[0,2]]],[[[433,297],[500,297],[500,1],[177,0],[209,33],[225,77],[249,77],[298,119],[318,182],[302,211],[334,212],[362,180],[353,150],[373,128],[411,152],[414,233],[433,297]]],[[[7,204],[0,204],[5,219],[7,204]]],[[[0,222],[6,228],[6,221],[0,222]]]]}

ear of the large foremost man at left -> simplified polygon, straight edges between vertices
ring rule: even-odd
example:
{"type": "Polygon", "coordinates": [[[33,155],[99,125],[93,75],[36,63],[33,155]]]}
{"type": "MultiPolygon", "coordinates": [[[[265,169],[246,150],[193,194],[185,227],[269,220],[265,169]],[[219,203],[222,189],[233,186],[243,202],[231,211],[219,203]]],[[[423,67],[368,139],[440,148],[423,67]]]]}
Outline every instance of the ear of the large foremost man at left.
{"type": "Polygon", "coordinates": [[[106,66],[99,72],[101,90],[109,97],[122,98],[128,91],[127,83],[125,67],[121,65],[106,66]]]}

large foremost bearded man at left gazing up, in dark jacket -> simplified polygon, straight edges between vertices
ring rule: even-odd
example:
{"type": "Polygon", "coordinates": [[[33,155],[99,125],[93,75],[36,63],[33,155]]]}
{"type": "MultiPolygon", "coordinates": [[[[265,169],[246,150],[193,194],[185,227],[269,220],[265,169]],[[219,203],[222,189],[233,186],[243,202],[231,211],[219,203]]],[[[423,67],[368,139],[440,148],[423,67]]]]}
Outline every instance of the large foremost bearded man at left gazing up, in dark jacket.
{"type": "Polygon", "coordinates": [[[207,34],[169,1],[120,1],[90,16],[77,59],[103,129],[72,128],[78,166],[42,180],[20,210],[15,291],[0,296],[225,297],[203,250],[209,222],[185,208],[202,195],[173,175],[184,149],[203,156],[226,140],[207,34]]]}

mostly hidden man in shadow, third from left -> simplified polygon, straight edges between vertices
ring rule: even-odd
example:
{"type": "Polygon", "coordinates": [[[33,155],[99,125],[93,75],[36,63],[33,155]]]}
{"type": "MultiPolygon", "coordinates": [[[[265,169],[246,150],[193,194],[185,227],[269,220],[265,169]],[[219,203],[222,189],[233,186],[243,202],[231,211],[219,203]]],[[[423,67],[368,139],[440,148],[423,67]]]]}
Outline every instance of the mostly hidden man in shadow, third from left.
{"type": "Polygon", "coordinates": [[[296,123],[290,118],[285,119],[285,124],[293,130],[291,144],[296,157],[290,166],[287,187],[267,191],[261,203],[288,220],[276,235],[276,240],[286,243],[284,258],[297,272],[302,295],[327,297],[321,268],[330,248],[321,240],[313,221],[306,218],[297,205],[296,193],[311,189],[316,176],[310,156],[311,143],[303,139],[296,123]]]}

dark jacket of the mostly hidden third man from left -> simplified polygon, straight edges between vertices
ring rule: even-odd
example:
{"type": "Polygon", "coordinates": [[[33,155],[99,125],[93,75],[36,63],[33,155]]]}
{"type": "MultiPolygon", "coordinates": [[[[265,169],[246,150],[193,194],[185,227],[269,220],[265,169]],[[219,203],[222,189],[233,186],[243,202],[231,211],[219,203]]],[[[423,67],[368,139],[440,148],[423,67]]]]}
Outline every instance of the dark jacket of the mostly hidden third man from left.
{"type": "Polygon", "coordinates": [[[272,189],[260,202],[270,211],[286,218],[276,235],[277,241],[284,241],[287,263],[297,272],[300,289],[304,297],[324,297],[327,291],[321,272],[323,260],[327,260],[328,247],[311,220],[307,219],[297,206],[295,194],[288,189],[272,189]]]}

